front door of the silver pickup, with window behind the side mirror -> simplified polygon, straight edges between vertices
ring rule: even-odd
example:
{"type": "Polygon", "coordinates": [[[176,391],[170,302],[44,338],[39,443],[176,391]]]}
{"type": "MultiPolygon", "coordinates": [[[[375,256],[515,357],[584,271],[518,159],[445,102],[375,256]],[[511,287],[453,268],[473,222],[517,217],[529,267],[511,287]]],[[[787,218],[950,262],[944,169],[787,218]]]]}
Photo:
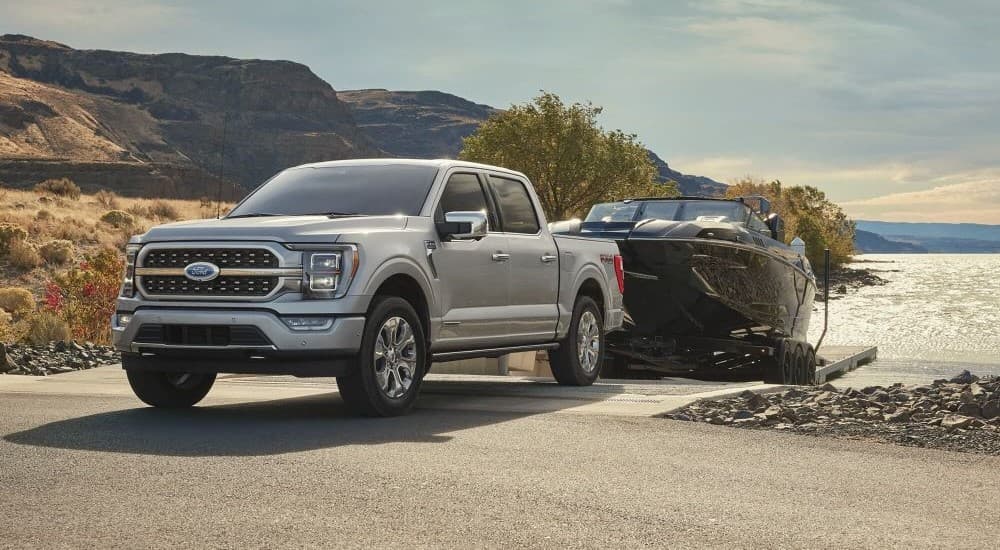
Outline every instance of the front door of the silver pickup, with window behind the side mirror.
{"type": "Polygon", "coordinates": [[[501,345],[510,331],[507,236],[496,231],[496,214],[480,176],[453,173],[435,208],[435,221],[444,221],[447,212],[468,211],[488,214],[487,235],[478,240],[445,240],[433,252],[442,312],[437,351],[501,345]]]}

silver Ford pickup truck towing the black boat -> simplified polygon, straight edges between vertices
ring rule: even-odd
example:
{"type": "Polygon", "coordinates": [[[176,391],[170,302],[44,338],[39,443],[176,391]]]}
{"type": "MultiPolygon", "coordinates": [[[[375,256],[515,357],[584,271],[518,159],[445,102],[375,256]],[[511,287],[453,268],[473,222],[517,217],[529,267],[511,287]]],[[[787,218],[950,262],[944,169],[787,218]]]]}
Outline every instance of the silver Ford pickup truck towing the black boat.
{"type": "Polygon", "coordinates": [[[529,350],[587,385],[623,316],[614,241],[553,237],[523,174],[453,160],[290,168],[126,255],[113,339],[158,407],[194,405],[217,373],[291,374],[398,415],[432,362],[529,350]]]}

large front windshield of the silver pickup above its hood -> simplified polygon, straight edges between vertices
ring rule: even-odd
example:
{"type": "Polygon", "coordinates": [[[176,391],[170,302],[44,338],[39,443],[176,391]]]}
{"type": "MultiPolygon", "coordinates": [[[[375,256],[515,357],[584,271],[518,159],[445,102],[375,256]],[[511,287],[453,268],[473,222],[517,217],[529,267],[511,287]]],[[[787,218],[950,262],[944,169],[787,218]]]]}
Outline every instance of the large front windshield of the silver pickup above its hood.
{"type": "Polygon", "coordinates": [[[227,217],[415,216],[435,175],[434,166],[407,164],[292,168],[260,186],[227,217]]]}

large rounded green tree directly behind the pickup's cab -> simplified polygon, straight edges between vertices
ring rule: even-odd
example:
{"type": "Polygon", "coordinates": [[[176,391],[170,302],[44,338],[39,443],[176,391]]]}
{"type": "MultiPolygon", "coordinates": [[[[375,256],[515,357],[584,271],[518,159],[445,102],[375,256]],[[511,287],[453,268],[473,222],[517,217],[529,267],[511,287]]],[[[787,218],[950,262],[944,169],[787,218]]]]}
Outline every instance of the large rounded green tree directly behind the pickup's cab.
{"type": "Polygon", "coordinates": [[[636,136],[605,131],[600,113],[542,92],[491,116],[465,138],[459,158],[526,174],[550,220],[581,216],[597,202],[676,195],[676,185],[656,183],[656,168],[636,136]]]}

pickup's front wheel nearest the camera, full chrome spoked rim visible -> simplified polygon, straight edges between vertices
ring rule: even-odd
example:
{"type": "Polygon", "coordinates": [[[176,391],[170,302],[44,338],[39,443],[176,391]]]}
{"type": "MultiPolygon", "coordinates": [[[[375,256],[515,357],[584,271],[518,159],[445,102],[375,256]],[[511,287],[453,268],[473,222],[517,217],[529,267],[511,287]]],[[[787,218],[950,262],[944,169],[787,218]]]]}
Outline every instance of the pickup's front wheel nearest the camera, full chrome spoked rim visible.
{"type": "Polygon", "coordinates": [[[416,310],[402,298],[376,296],[361,337],[358,368],[337,377],[337,387],[354,413],[400,416],[413,408],[426,371],[427,340],[416,310]]]}

